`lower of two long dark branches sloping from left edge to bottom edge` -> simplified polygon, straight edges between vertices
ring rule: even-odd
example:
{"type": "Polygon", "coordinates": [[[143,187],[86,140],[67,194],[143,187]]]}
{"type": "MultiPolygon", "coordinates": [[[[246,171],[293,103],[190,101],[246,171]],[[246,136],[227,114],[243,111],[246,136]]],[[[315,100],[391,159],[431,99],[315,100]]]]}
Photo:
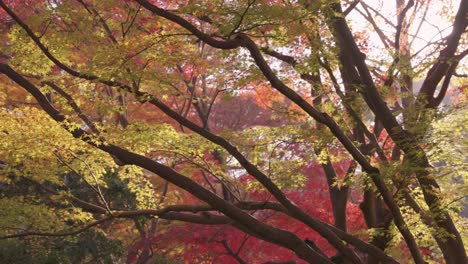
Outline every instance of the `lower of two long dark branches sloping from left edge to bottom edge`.
{"type": "MultiPolygon", "coordinates": [[[[0,72],[7,75],[10,79],[18,83],[21,87],[27,90],[33,95],[39,102],[41,107],[46,113],[54,119],[56,122],[62,124],[65,128],[67,126],[63,124],[65,116],[53,108],[47,101],[41,91],[35,87],[28,80],[23,78],[20,74],[15,72],[6,64],[0,64],[0,72]]],[[[69,129],[72,130],[72,129],[69,129]]],[[[174,171],[172,168],[151,160],[145,156],[138,155],[126,149],[120,148],[113,144],[97,144],[90,138],[87,133],[79,128],[75,128],[70,132],[75,138],[80,138],[84,142],[92,145],[96,148],[103,150],[104,152],[117,157],[123,164],[136,165],[157,174],[159,177],[173,183],[181,189],[191,193],[198,199],[211,205],[216,210],[222,212],[233,221],[237,222],[241,228],[249,230],[249,233],[269,241],[271,243],[280,245],[294,251],[300,258],[307,261],[319,261],[320,263],[331,263],[328,259],[322,257],[312,249],[310,249],[301,239],[295,234],[277,229],[275,227],[263,224],[257,219],[253,218],[249,214],[240,210],[233,204],[225,201],[218,197],[212,192],[206,190],[190,178],[174,171]]],[[[327,229],[328,232],[330,232],[327,229]]]]}

